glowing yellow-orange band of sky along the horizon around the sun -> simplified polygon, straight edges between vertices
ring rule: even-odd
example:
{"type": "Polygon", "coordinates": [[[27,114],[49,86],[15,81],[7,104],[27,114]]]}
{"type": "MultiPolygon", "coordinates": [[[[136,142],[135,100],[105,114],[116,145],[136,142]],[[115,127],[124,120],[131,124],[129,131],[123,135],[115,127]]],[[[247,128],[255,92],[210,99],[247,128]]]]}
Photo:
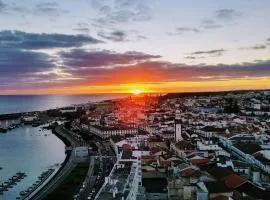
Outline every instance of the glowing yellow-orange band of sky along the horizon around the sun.
{"type": "Polygon", "coordinates": [[[137,84],[90,85],[56,87],[50,89],[6,90],[3,94],[90,94],[90,93],[131,93],[142,90],[146,93],[225,91],[245,89],[269,89],[270,77],[218,80],[218,81],[171,81],[137,84]],[[248,86],[248,87],[247,87],[248,86]]]}

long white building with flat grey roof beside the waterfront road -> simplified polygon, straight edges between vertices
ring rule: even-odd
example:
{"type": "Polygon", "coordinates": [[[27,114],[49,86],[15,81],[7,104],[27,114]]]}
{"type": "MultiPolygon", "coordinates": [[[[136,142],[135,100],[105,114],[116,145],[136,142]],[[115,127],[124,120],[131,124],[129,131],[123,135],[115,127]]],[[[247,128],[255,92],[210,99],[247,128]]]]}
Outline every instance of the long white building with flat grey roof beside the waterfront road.
{"type": "Polygon", "coordinates": [[[139,151],[124,150],[120,152],[116,164],[96,195],[96,200],[145,199],[142,193],[142,172],[139,151]]]}

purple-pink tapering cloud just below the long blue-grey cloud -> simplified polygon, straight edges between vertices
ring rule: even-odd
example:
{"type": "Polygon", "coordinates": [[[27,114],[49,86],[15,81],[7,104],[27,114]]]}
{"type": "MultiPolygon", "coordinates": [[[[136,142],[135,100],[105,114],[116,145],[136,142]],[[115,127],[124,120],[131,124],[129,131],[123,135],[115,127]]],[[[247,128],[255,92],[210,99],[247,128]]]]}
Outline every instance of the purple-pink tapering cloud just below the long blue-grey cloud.
{"type": "Polygon", "coordinates": [[[68,67],[113,67],[142,62],[160,56],[140,52],[116,53],[113,51],[86,51],[74,49],[69,52],[60,52],[63,63],[68,67]]]}

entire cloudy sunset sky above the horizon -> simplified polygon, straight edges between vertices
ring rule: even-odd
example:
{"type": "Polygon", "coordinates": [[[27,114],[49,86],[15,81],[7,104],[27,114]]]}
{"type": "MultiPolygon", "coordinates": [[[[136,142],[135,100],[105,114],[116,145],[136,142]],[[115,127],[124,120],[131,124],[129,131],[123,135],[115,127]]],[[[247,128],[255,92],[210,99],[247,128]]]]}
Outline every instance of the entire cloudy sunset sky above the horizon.
{"type": "Polygon", "coordinates": [[[0,0],[0,94],[270,88],[269,0],[0,0]]]}

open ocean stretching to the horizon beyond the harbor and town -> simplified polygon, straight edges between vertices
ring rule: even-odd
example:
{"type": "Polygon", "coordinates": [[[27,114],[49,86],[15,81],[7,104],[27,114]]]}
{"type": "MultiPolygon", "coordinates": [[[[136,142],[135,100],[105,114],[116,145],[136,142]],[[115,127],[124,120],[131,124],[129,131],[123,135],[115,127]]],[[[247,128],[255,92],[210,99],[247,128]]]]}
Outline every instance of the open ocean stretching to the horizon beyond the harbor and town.
{"type": "Polygon", "coordinates": [[[57,107],[121,98],[125,94],[91,95],[3,95],[0,96],[0,114],[43,111],[57,107]]]}

